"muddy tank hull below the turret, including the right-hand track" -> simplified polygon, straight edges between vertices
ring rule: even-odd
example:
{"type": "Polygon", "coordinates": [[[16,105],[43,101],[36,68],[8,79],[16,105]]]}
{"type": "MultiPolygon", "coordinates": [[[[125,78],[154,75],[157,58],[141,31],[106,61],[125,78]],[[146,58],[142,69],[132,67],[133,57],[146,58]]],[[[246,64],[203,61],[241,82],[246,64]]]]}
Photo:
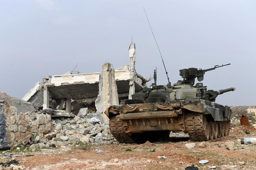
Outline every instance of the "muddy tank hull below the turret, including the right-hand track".
{"type": "MultiPolygon", "coordinates": [[[[126,104],[118,109],[118,115],[112,116],[120,121],[119,126],[122,123],[119,132],[125,133],[127,138],[145,132],[183,131],[194,141],[205,141],[228,135],[232,111],[228,106],[188,98],[179,102],[126,104]]],[[[110,130],[115,130],[113,135],[117,138],[118,130],[111,121],[110,130]]],[[[133,143],[131,141],[121,142],[133,143]]]]}

